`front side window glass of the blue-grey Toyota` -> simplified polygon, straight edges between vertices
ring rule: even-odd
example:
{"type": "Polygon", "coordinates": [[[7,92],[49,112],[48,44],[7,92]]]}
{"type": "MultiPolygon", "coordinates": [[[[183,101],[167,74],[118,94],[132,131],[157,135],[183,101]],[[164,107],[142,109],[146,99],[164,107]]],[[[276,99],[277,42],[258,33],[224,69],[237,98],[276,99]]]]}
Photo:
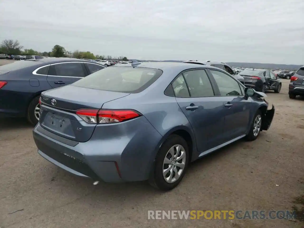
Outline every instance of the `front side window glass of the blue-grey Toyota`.
{"type": "Polygon", "coordinates": [[[216,84],[219,87],[221,96],[241,96],[242,92],[239,83],[228,74],[221,71],[210,70],[216,84]]]}

